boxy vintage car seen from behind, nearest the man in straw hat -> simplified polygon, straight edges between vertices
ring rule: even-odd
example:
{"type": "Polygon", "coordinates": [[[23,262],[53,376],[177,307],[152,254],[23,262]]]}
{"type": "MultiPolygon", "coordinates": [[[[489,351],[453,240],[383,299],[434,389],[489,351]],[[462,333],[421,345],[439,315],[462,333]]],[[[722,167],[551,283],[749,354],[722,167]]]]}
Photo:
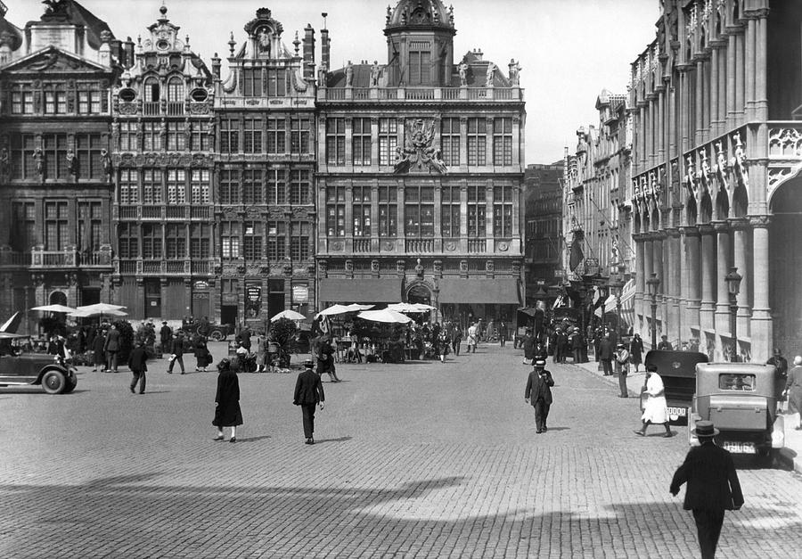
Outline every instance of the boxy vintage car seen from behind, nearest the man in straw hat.
{"type": "Polygon", "coordinates": [[[774,366],[712,363],[696,367],[696,395],[688,421],[688,440],[699,445],[692,429],[712,421],[719,430],[716,444],[739,454],[773,456],[785,445],[785,425],[777,414],[774,366]]]}

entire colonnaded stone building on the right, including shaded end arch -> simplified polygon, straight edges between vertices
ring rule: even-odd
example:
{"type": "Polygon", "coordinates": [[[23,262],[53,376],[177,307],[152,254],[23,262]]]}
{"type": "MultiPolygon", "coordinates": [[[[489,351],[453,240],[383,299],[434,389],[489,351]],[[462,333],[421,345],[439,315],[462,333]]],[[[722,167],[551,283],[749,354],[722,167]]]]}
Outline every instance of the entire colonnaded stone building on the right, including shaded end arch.
{"type": "Polygon", "coordinates": [[[632,64],[642,333],[654,324],[674,343],[697,339],[716,360],[798,352],[800,29],[796,2],[662,4],[655,40],[632,64]]]}

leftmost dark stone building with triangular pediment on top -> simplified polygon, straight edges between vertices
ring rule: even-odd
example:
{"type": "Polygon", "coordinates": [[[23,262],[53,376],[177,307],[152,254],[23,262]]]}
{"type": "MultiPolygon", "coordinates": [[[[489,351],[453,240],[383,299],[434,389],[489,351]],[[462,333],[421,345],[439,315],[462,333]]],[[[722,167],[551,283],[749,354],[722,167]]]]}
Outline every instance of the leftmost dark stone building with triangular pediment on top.
{"type": "Polygon", "coordinates": [[[110,88],[125,56],[76,3],[0,4],[0,313],[110,300],[110,88]]]}

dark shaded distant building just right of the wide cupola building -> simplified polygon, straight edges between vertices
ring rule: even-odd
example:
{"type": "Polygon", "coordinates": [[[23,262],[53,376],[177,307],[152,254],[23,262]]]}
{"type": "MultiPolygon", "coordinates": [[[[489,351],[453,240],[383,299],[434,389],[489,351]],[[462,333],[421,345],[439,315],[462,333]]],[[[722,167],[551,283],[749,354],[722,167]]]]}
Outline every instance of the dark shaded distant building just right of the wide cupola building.
{"type": "MultiPolygon", "coordinates": [[[[548,288],[560,284],[562,269],[562,191],[565,161],[527,166],[524,176],[526,215],[527,306],[545,299],[548,288]]],[[[552,294],[554,291],[552,290],[552,294]]]]}

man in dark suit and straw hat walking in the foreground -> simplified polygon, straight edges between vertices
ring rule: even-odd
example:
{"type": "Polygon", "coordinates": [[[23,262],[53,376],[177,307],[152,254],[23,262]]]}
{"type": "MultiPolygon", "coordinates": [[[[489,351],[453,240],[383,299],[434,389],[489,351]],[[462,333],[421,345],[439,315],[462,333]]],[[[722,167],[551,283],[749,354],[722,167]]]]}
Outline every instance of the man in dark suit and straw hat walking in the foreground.
{"type": "Polygon", "coordinates": [[[680,486],[688,483],[683,508],[693,511],[701,556],[708,559],[716,555],[724,511],[739,510],[743,506],[743,494],[732,456],[713,442],[718,434],[713,422],[696,422],[692,434],[699,438],[700,446],[691,448],[685,456],[683,465],[677,468],[671,480],[670,490],[676,496],[680,486]]]}

